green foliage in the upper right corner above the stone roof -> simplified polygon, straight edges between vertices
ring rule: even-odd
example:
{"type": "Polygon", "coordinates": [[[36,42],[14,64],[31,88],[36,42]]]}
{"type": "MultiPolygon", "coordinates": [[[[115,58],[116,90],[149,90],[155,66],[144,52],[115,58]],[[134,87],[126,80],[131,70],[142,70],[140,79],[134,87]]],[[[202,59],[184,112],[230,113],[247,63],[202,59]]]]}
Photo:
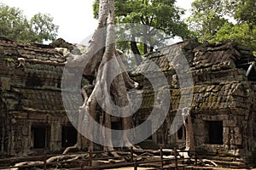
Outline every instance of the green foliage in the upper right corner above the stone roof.
{"type": "Polygon", "coordinates": [[[254,0],[195,0],[189,26],[201,42],[233,39],[256,51],[254,0]]]}

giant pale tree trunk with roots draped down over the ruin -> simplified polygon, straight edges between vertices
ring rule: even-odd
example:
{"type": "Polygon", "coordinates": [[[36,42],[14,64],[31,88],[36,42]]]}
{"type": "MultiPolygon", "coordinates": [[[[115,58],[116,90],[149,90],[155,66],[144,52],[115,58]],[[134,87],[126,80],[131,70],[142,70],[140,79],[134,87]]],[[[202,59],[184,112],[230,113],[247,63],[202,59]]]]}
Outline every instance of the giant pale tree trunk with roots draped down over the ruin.
{"type": "MultiPolygon", "coordinates": [[[[85,111],[90,114],[93,119],[96,119],[96,106],[98,105],[98,98],[100,98],[102,105],[108,107],[107,110],[102,108],[103,125],[107,128],[102,128],[102,140],[104,141],[104,149],[113,149],[113,142],[111,139],[111,101],[112,98],[110,94],[113,94],[113,99],[115,104],[119,107],[124,107],[129,105],[129,95],[127,94],[127,88],[134,88],[137,86],[136,82],[133,82],[129,77],[127,72],[122,72],[118,74],[112,82],[114,71],[118,71],[125,67],[121,59],[119,59],[120,53],[115,49],[114,43],[114,0],[100,0],[99,7],[99,24],[96,29],[92,41],[90,41],[90,46],[88,51],[84,55],[67,55],[68,66],[77,67],[81,66],[84,68],[84,60],[90,59],[90,65],[86,65],[84,68],[84,75],[94,77],[94,84],[90,86],[93,88],[90,96],[87,96],[86,90],[83,91],[84,95],[84,105],[80,107],[79,110],[79,124],[78,130],[81,132],[87,131],[92,136],[93,139],[94,127],[92,123],[87,122],[88,119],[85,116],[85,111]],[[103,31],[102,31],[103,30],[103,31]],[[104,48],[101,48],[104,47],[104,48]],[[95,52],[97,53],[95,54],[95,52]],[[92,56],[92,57],[90,57],[92,56]],[[111,61],[111,62],[110,62],[111,61]],[[113,61],[114,64],[111,64],[113,61]],[[110,64],[109,64],[110,63],[110,64]],[[108,87],[110,87],[110,92],[108,87]],[[84,93],[85,92],[85,93],[84,93]],[[100,95],[97,95],[100,94],[100,95]],[[83,118],[81,118],[83,116],[83,118]]],[[[113,103],[113,102],[112,102],[113,103]]],[[[129,111],[121,110],[124,113],[121,115],[126,115],[129,111]]],[[[131,128],[131,116],[123,118],[123,128],[131,128]]],[[[81,135],[78,135],[78,143],[73,147],[82,147],[81,135]]],[[[131,146],[128,139],[128,134],[124,133],[123,138],[125,138],[124,145],[131,146]]],[[[93,149],[93,142],[89,142],[89,149],[93,149]]],[[[65,151],[67,153],[67,151],[65,151]]]]}

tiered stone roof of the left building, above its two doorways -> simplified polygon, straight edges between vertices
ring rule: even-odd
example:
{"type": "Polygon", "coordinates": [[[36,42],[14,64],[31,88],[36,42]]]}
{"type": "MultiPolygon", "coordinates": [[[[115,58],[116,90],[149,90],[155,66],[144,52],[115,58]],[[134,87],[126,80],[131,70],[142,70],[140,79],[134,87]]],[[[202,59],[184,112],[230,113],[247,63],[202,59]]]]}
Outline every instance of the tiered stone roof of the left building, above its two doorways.
{"type": "Polygon", "coordinates": [[[20,43],[0,37],[0,101],[3,107],[12,112],[64,113],[61,77],[65,61],[66,58],[49,45],[20,43]],[[19,65],[20,58],[25,65],[19,65]]]}

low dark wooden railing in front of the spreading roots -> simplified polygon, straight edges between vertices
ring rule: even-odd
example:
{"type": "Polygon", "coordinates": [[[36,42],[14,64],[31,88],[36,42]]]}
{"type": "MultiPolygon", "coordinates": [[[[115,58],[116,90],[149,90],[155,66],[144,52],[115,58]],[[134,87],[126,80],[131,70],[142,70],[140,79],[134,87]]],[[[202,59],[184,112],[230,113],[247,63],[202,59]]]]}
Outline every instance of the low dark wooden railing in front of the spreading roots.
{"type": "MultiPolygon", "coordinates": [[[[47,169],[47,167],[53,167],[53,166],[61,166],[68,163],[73,163],[76,166],[72,167],[70,169],[73,170],[80,170],[80,169],[108,169],[108,168],[114,168],[114,167],[134,167],[135,170],[137,170],[137,167],[141,166],[147,166],[147,167],[157,167],[158,169],[163,168],[174,168],[178,169],[181,167],[185,167],[185,165],[182,163],[186,159],[191,159],[191,157],[184,158],[184,156],[180,156],[181,154],[185,155],[193,155],[194,166],[197,166],[198,159],[200,157],[197,154],[197,150],[195,151],[187,151],[187,150],[166,150],[166,149],[160,149],[160,150],[137,150],[133,149],[132,147],[127,150],[100,150],[100,151],[93,151],[89,150],[88,152],[83,153],[73,153],[73,154],[59,154],[59,155],[46,155],[43,156],[26,156],[26,157],[15,157],[15,158],[4,158],[0,159],[0,169],[19,169],[24,167],[41,167],[44,170],[47,169]],[[119,155],[122,156],[109,156],[111,153],[119,153],[119,155]],[[168,153],[169,156],[165,156],[165,152],[168,153]],[[182,153],[181,153],[182,152],[182,153]],[[135,155],[134,153],[141,153],[141,155],[135,155]],[[144,154],[142,154],[144,153],[144,154]],[[154,156],[145,156],[145,153],[148,155],[154,153],[154,156]],[[62,160],[62,161],[50,161],[47,160],[50,157],[53,156],[85,156],[81,159],[77,160],[62,160]],[[109,161],[109,160],[115,160],[115,161],[109,161]],[[101,162],[108,160],[108,163],[104,164],[101,162]],[[35,165],[21,165],[21,166],[15,166],[15,163],[17,162],[34,162],[38,161],[38,164],[35,165]],[[4,163],[7,164],[10,162],[8,166],[1,166],[4,163]]],[[[117,154],[112,154],[117,155],[117,154]]]]}

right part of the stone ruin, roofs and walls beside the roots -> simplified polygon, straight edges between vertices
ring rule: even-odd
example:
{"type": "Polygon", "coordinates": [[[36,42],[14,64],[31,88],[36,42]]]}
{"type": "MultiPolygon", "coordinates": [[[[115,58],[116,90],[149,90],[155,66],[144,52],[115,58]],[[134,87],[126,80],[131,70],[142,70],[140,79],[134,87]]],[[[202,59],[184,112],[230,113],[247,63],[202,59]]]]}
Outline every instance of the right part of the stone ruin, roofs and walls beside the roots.
{"type": "Polygon", "coordinates": [[[169,115],[163,126],[153,134],[154,143],[165,147],[184,146],[184,127],[174,135],[168,133],[168,128],[172,126],[174,116],[180,113],[178,105],[183,104],[181,95],[193,93],[191,116],[197,148],[220,150],[234,156],[251,156],[256,142],[256,71],[252,52],[230,41],[218,44],[189,41],[161,48],[145,58],[133,73],[134,79],[143,84],[143,104],[137,111],[137,119],[147,119],[154,104],[150,82],[138,74],[148,72],[154,77],[154,66],[148,64],[149,59],[165,73],[172,95],[169,115]],[[180,55],[188,60],[194,79],[194,86],[183,90],[179,88],[172,63],[167,61],[167,58],[172,60],[180,55]]]}

